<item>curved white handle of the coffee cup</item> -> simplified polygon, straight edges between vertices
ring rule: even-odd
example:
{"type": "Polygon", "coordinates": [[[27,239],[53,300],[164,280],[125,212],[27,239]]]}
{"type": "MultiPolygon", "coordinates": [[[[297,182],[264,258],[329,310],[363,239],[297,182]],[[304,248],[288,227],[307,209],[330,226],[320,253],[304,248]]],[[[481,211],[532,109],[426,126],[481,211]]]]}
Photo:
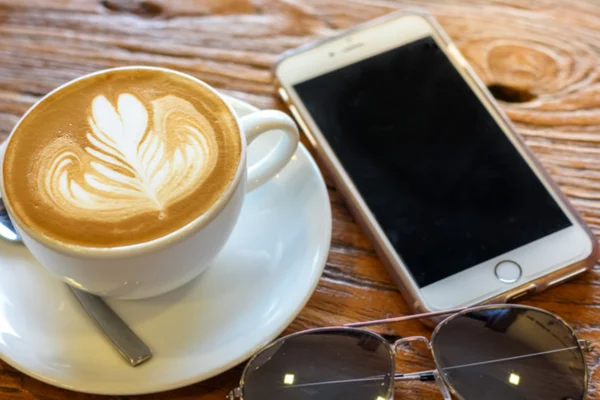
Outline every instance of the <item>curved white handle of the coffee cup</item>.
{"type": "Polygon", "coordinates": [[[277,146],[259,161],[248,166],[247,191],[251,191],[274,177],[287,165],[298,147],[296,123],[281,111],[264,110],[240,119],[248,146],[265,132],[277,129],[283,133],[277,146]]]}

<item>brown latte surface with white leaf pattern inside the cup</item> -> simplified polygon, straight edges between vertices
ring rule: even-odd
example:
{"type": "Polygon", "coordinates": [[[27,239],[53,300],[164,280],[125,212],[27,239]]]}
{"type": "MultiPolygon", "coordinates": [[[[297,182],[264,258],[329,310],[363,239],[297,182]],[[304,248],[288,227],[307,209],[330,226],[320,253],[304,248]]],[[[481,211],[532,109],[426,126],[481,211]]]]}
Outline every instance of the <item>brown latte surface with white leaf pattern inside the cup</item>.
{"type": "Polygon", "coordinates": [[[67,245],[145,243],[197,219],[227,191],[242,139],[224,101],[174,72],[87,76],[14,131],[3,178],[21,224],[67,245]]]}

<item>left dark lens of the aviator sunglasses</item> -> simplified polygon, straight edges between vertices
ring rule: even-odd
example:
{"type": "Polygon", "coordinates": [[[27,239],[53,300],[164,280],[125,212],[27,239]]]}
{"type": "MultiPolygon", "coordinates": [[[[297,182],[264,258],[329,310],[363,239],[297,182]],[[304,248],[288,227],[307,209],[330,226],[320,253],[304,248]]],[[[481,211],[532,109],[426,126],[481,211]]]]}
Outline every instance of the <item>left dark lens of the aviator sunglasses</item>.
{"type": "Polygon", "coordinates": [[[281,339],[247,366],[244,399],[388,400],[393,356],[378,336],[328,329],[281,339]]]}

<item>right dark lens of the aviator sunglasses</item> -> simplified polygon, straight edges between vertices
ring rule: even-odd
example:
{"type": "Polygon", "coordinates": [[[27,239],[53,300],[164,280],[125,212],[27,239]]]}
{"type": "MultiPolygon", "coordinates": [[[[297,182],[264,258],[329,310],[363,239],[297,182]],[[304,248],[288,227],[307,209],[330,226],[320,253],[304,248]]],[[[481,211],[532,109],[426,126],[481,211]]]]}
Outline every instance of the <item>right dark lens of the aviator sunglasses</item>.
{"type": "Polygon", "coordinates": [[[583,353],[571,329],[541,310],[488,308],[456,316],[432,343],[446,381],[465,400],[579,400],[583,353]]]}

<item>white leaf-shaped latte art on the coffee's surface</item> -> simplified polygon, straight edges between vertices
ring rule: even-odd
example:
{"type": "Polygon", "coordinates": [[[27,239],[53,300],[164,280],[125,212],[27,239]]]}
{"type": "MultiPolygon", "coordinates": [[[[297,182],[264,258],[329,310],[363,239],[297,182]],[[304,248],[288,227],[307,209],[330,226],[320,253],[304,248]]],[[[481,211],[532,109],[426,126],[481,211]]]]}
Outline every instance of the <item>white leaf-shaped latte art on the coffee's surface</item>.
{"type": "Polygon", "coordinates": [[[40,154],[42,196],[65,215],[126,218],[189,195],[213,170],[214,132],[187,101],[166,96],[147,107],[123,93],[117,104],[97,96],[88,118],[88,145],[57,140],[40,154]],[[94,211],[89,214],[89,211],[94,211]]]}

